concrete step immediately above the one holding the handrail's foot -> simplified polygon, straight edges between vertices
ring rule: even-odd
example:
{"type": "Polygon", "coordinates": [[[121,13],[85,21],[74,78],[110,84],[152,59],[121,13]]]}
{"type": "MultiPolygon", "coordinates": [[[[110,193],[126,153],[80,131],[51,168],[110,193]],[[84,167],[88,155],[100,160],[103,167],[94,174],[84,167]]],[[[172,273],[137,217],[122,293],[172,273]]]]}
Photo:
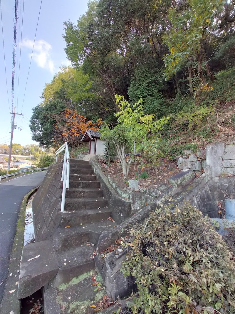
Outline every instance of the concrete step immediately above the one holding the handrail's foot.
{"type": "Polygon", "coordinates": [[[65,198],[65,210],[74,211],[88,208],[106,207],[107,199],[95,198],[65,198]]]}

